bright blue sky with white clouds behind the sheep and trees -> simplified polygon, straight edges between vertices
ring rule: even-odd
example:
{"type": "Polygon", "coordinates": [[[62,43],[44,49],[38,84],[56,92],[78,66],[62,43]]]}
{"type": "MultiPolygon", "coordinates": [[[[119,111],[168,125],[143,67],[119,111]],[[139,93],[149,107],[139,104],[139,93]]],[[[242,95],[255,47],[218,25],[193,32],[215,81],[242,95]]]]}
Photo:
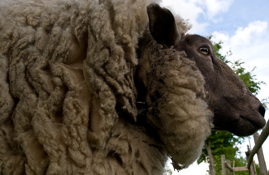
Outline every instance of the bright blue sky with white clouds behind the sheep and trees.
{"type": "MultiPolygon", "coordinates": [[[[221,54],[229,50],[232,55],[228,60],[241,59],[247,71],[255,68],[257,81],[267,84],[261,85],[257,97],[262,100],[269,97],[269,1],[268,0],[163,0],[162,7],[172,13],[188,19],[192,29],[188,33],[202,36],[213,35],[213,41],[222,41],[221,54]]],[[[269,119],[269,110],[265,112],[265,120],[269,119]]],[[[259,131],[260,133],[261,131],[259,131]]],[[[241,145],[243,153],[247,145],[254,147],[253,136],[241,145]]],[[[267,169],[269,169],[269,138],[262,145],[267,169]],[[267,149],[266,149],[267,148],[267,149]]],[[[254,160],[258,163],[257,156],[254,160]]],[[[168,163],[169,164],[169,163],[168,163]]],[[[170,166],[173,170],[173,168],[170,166]]],[[[193,163],[185,170],[173,172],[173,175],[205,175],[206,163],[193,163]]]]}

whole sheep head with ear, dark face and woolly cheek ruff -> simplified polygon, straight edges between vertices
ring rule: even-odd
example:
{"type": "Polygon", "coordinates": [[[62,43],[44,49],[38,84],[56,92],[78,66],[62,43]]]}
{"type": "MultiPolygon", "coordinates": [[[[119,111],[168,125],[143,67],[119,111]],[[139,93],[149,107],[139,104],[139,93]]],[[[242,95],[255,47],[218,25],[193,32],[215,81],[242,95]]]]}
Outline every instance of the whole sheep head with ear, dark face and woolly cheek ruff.
{"type": "Polygon", "coordinates": [[[138,101],[148,105],[147,122],[174,162],[186,167],[195,161],[212,128],[248,136],[265,126],[265,108],[215,56],[209,39],[185,35],[182,20],[177,26],[158,4],[147,12],[149,31],[138,54],[138,101]]]}

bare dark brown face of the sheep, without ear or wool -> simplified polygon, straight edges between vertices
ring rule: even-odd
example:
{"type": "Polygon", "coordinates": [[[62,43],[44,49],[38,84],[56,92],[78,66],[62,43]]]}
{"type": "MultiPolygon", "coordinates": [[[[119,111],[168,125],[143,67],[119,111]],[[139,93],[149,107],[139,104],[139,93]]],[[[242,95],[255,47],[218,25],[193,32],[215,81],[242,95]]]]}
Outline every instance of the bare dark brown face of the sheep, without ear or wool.
{"type": "Polygon", "coordinates": [[[248,136],[265,126],[265,108],[233,70],[215,56],[207,38],[186,35],[177,50],[184,50],[204,76],[204,100],[215,114],[214,129],[248,136]]]}

